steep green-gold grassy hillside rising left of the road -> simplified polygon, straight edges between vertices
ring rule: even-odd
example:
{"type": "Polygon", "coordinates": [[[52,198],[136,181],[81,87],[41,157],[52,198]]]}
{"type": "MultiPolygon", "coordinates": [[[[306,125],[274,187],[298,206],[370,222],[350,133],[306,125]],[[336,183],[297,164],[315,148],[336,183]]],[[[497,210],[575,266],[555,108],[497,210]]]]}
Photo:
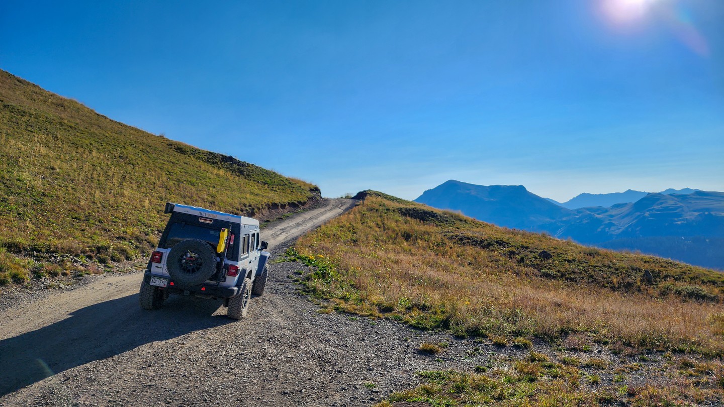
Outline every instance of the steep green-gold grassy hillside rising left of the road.
{"type": "Polygon", "coordinates": [[[27,280],[28,269],[57,269],[19,253],[131,259],[156,243],[166,201],[258,216],[318,193],[307,182],[115,122],[0,71],[0,285],[27,280]]]}

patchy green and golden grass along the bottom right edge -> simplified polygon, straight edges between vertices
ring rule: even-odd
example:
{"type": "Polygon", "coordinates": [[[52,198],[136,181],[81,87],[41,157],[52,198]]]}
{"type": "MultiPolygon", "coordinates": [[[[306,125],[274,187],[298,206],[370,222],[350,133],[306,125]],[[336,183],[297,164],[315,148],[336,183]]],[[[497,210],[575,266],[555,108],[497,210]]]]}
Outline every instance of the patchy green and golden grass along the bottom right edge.
{"type": "MultiPolygon", "coordinates": [[[[479,366],[483,367],[483,366],[479,366]]],[[[696,366],[665,385],[604,383],[576,367],[549,368],[540,361],[499,363],[479,372],[418,372],[424,382],[389,395],[376,407],[393,406],[719,406],[722,366],[696,366]],[[485,373],[487,371],[487,373],[485,373]],[[409,404],[408,404],[409,403],[409,404]]]]}

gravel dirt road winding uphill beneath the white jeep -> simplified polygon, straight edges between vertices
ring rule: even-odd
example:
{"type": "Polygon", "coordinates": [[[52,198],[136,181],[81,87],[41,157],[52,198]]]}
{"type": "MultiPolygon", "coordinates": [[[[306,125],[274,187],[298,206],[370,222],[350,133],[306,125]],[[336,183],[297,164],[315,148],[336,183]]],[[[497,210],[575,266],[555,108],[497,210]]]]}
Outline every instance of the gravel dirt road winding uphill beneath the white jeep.
{"type": "MultiPolygon", "coordinates": [[[[352,204],[331,200],[263,238],[277,256],[352,204]]],[[[142,272],[14,306],[0,314],[0,406],[366,406],[418,370],[463,367],[418,355],[429,337],[398,324],[317,313],[290,280],[305,269],[272,264],[242,321],[221,301],[172,296],[142,310],[142,272]]]]}

